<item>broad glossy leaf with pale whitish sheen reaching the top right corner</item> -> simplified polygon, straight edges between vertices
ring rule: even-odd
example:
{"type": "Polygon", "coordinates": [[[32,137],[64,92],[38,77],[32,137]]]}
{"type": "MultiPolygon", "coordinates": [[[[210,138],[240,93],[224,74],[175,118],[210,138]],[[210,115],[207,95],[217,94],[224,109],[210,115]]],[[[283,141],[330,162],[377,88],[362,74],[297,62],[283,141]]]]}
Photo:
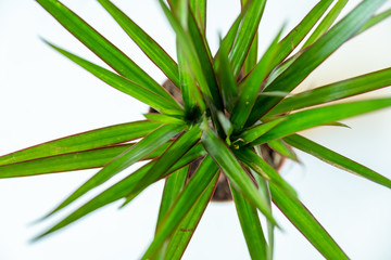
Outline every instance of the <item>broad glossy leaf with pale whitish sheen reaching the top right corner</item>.
{"type": "MultiPolygon", "coordinates": [[[[311,72],[349,40],[386,1],[387,0],[365,0],[358,4],[358,6],[350,12],[342,21],[302,53],[291,66],[268,86],[267,90],[292,91],[311,72]]],[[[248,126],[251,126],[264,116],[282,99],[283,96],[265,98],[260,95],[248,120],[248,126]]]]}

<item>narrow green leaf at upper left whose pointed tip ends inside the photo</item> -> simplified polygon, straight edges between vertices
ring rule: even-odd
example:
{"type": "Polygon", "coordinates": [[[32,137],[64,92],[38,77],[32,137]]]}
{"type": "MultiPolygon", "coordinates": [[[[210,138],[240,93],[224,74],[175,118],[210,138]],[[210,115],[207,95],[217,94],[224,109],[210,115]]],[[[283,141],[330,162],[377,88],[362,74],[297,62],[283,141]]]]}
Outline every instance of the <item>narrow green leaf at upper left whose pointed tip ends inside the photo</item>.
{"type": "Polygon", "coordinates": [[[78,64],[80,67],[94,75],[97,78],[101,79],[113,88],[148,104],[149,106],[152,106],[156,110],[181,109],[178,103],[171,103],[163,96],[155,94],[154,92],[135,83],[134,81],[130,81],[115,73],[110,72],[109,69],[90,63],[87,60],[76,56],[71,52],[67,52],[59,47],[51,44],[50,42],[47,43],[74,63],[78,64]]]}

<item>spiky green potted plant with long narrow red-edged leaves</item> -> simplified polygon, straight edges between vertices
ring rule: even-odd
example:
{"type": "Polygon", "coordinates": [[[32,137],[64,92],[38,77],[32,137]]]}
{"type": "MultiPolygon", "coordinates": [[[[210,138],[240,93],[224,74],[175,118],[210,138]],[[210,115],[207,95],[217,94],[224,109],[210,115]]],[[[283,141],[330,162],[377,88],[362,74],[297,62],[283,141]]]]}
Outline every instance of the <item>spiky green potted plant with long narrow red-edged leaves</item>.
{"type": "Polygon", "coordinates": [[[104,166],[49,216],[134,162],[152,159],[41,236],[112,202],[126,198],[127,204],[148,185],[167,177],[156,235],[144,258],[154,255],[161,257],[164,251],[166,259],[180,258],[212,196],[220,168],[230,181],[253,259],[272,258],[276,224],[270,213],[272,199],[326,258],[346,258],[303,207],[293,188],[258,156],[257,145],[268,143],[277,152],[295,159],[290,146],[286,145],[289,144],[335,166],[391,186],[390,180],[380,174],[297,134],[298,131],[316,126],[338,126],[338,120],[391,105],[391,99],[378,99],[311,108],[387,87],[391,81],[390,69],[295,95],[289,94],[341,44],[387,17],[389,11],[371,16],[384,0],[363,1],[332,27],[331,24],[348,1],[337,1],[323,18],[321,15],[333,1],[320,1],[295,30],[282,40],[279,39],[281,32],[278,34],[260,61],[253,42],[257,39],[256,28],[265,1],[243,1],[241,15],[222,39],[219,51],[214,57],[204,37],[204,1],[189,1],[189,5],[187,1],[171,1],[172,11],[161,2],[177,34],[178,65],[111,2],[100,0],[167,78],[180,87],[184,108],[128,57],[65,6],[52,0],[37,2],[117,74],[49,43],[51,47],[106,83],[161,113],[147,114],[144,121],[68,136],[0,158],[1,178],[104,166]],[[319,20],[323,22],[304,46],[292,53],[319,20]],[[240,74],[243,77],[239,77],[240,74]],[[299,110],[302,108],[308,109],[299,110]],[[130,143],[139,138],[142,140],[130,143]],[[201,167],[186,183],[187,165],[203,156],[206,157],[201,167]],[[250,174],[253,174],[256,185],[250,174]],[[269,245],[256,210],[268,219],[269,245]]]}

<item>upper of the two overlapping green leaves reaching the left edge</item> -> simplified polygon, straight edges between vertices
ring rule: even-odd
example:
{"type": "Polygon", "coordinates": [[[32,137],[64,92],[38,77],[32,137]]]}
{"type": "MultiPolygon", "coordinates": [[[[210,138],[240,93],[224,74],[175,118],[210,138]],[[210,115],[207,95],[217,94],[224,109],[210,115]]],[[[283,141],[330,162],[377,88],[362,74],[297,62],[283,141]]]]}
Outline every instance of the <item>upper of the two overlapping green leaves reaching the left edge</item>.
{"type": "Polygon", "coordinates": [[[143,120],[77,133],[3,155],[0,157],[0,165],[15,164],[24,160],[124,143],[148,134],[160,125],[159,122],[143,120]]]}

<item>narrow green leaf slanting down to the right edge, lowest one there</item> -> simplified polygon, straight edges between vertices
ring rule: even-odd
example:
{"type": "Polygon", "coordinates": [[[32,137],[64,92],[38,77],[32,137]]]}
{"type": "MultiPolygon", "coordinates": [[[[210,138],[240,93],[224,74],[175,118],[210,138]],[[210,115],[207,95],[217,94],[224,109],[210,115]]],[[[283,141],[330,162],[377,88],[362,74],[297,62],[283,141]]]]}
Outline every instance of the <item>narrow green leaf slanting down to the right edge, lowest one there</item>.
{"type": "Polygon", "coordinates": [[[391,180],[304,136],[293,134],[283,140],[293,147],[311,154],[327,164],[391,188],[391,180]]]}

